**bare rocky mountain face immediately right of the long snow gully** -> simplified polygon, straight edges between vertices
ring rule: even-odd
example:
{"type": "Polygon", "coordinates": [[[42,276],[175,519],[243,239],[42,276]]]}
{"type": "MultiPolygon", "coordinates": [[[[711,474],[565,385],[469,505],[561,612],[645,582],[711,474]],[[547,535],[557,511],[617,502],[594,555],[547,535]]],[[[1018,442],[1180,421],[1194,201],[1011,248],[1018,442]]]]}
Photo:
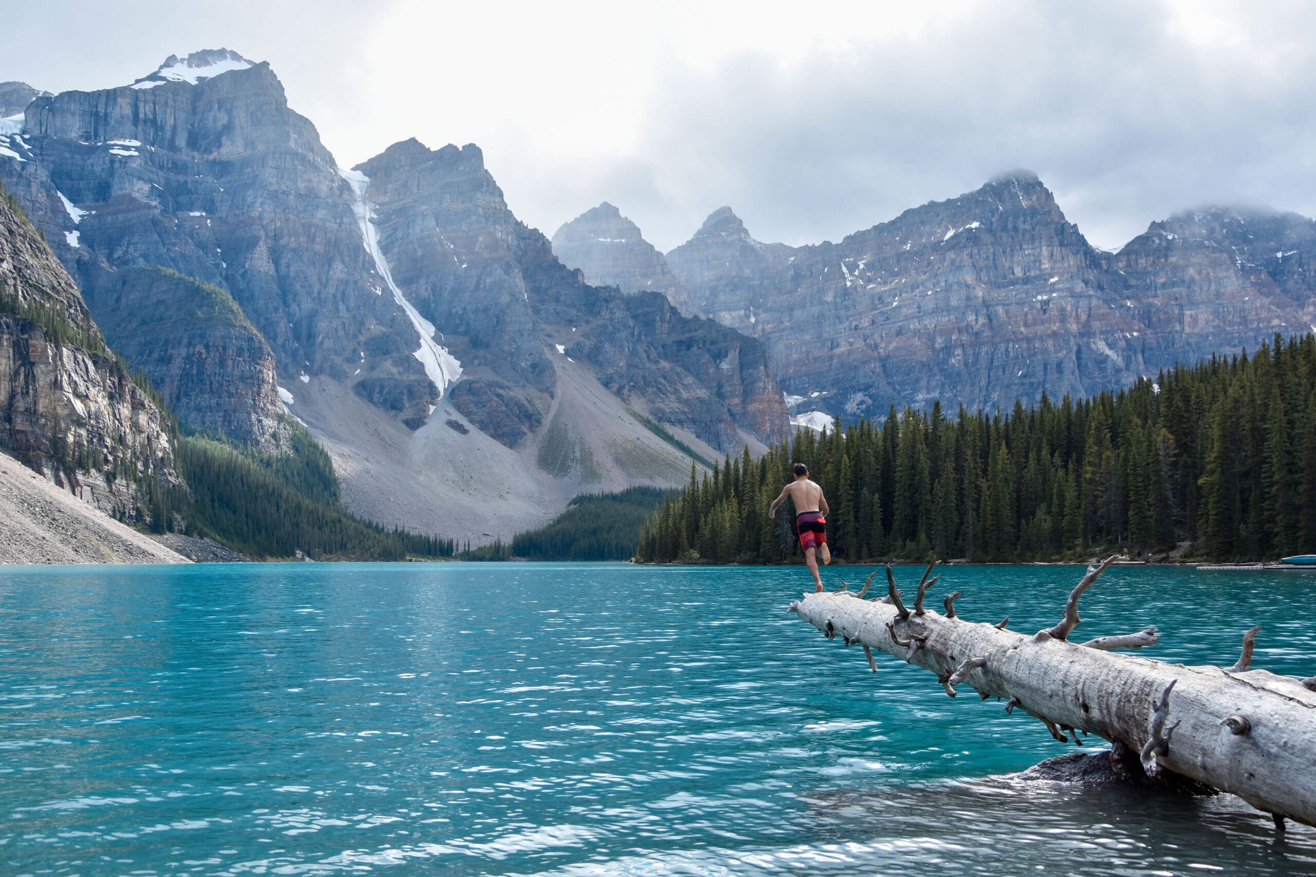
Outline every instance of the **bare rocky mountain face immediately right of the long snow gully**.
{"type": "Polygon", "coordinates": [[[508,210],[475,146],[397,143],[358,166],[401,293],[462,363],[451,402],[516,447],[557,392],[551,350],[588,362],[604,387],[657,419],[732,450],[740,430],[784,434],[786,412],[757,342],[688,320],[657,293],[584,283],[508,210]]]}

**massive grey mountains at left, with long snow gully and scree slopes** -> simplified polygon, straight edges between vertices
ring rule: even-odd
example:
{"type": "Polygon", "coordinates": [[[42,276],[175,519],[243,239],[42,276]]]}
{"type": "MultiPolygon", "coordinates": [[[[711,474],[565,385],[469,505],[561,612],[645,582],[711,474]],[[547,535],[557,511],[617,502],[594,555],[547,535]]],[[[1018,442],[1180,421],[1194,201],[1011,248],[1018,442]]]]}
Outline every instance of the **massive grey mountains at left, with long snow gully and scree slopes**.
{"type": "Polygon", "coordinates": [[[303,421],[366,518],[482,542],[790,429],[762,342],[588,285],[474,145],[342,168],[270,66],[224,49],[0,95],[29,97],[0,183],[109,346],[188,429],[271,451],[303,421]]]}

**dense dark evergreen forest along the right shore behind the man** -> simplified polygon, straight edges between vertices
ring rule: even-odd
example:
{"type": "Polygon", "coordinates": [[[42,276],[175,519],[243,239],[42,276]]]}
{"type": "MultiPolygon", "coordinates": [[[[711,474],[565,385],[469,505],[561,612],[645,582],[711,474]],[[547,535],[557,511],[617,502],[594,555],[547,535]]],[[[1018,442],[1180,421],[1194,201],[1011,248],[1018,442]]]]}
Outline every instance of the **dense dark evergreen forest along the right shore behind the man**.
{"type": "Polygon", "coordinates": [[[642,561],[783,563],[794,514],[767,506],[792,463],[828,497],[846,561],[1153,555],[1261,560],[1316,546],[1316,337],[1277,335],[1078,402],[948,419],[890,410],[728,458],[654,513],[642,561]],[[1191,546],[1183,546],[1183,543],[1191,546]]]}

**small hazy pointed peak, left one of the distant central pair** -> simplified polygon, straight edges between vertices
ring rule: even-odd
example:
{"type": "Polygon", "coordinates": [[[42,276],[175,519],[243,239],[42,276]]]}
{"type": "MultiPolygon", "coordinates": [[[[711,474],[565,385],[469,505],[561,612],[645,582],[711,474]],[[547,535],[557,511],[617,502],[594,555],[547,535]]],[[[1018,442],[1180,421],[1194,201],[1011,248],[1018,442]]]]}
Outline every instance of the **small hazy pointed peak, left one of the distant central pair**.
{"type": "Polygon", "coordinates": [[[661,292],[680,301],[680,285],[667,260],[645,241],[640,226],[604,201],[565,222],[553,235],[553,255],[580,268],[586,283],[622,292],[661,292]]]}

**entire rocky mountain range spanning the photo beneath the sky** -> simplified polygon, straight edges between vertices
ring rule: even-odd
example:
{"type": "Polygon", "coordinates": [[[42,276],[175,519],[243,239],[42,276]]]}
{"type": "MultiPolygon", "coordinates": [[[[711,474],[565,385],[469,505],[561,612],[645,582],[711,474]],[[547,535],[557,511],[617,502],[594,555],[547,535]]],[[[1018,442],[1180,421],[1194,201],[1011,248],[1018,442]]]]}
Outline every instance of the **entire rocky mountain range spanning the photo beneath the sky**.
{"type": "Polygon", "coordinates": [[[9,325],[0,438],[120,515],[139,504],[116,473],[180,484],[168,412],[266,456],[300,421],[347,510],[480,543],[792,421],[1084,396],[1316,322],[1296,214],[1175,214],[1108,252],[1016,172],[840,243],[762,243],[721,208],[663,254],[608,202],[550,242],[475,145],[341,167],[225,49],[117,88],[4,83],[0,116],[12,224],[45,238],[14,233],[11,304],[63,313],[83,351],[9,325]]]}

